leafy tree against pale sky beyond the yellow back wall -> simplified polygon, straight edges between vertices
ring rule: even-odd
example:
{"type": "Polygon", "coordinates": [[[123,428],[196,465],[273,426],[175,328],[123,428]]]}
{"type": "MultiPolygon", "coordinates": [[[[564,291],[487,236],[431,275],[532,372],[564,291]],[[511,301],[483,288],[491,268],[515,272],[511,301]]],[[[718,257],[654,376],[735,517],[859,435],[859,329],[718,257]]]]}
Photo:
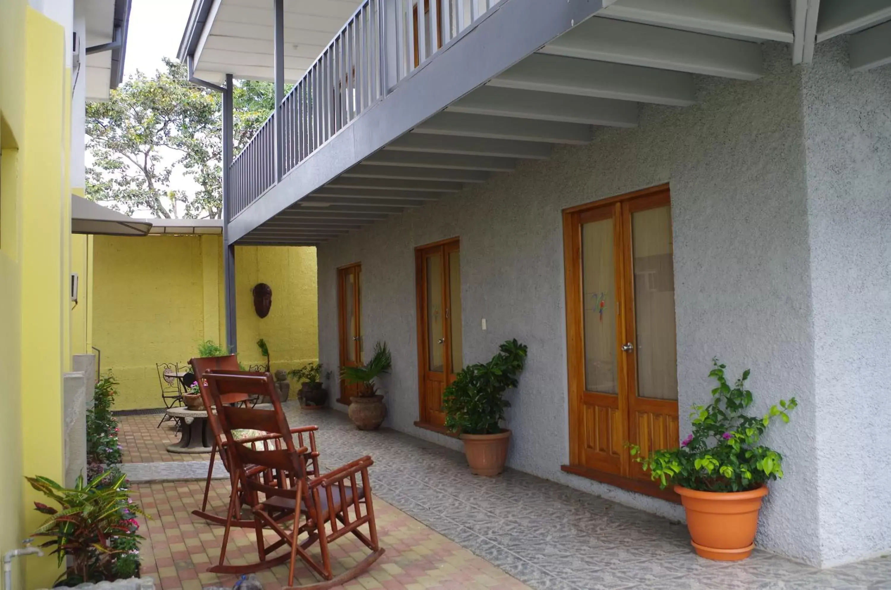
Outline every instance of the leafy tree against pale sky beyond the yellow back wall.
{"type": "MultiPolygon", "coordinates": [[[[238,154],[273,110],[268,82],[242,81],[233,92],[238,154]]],[[[184,64],[164,59],[151,77],[137,72],[107,102],[86,106],[86,170],[91,200],[132,215],[217,219],[222,215],[222,96],[188,81],[184,64]],[[192,194],[171,180],[191,177],[192,194]]]]}

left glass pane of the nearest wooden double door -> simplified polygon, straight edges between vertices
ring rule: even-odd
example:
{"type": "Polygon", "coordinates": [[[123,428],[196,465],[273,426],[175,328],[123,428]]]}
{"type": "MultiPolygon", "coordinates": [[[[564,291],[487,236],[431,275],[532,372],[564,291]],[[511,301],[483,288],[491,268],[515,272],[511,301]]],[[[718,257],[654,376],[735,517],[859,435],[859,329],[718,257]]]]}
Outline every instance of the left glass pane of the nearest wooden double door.
{"type": "Polygon", "coordinates": [[[611,219],[582,225],[584,388],[589,392],[617,392],[613,249],[611,219]]]}

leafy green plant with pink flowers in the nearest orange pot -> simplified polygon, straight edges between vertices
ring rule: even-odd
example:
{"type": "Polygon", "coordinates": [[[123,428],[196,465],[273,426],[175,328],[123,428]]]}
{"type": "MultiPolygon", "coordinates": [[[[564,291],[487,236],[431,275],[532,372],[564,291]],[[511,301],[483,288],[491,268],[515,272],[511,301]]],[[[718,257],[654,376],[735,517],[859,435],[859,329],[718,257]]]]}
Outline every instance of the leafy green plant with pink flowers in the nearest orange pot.
{"type": "Polygon", "coordinates": [[[789,410],[795,398],[780,400],[764,416],[747,416],[743,411],[752,405],[752,392],[746,389],[748,369],[733,384],[724,377],[726,365],[717,359],[708,374],[717,381],[712,402],[693,406],[693,432],[681,441],[678,449],[656,450],[646,457],[640,447],[630,445],[631,455],[650,471],[660,488],[674,483],[688,489],[712,492],[736,492],[754,489],[764,481],[782,477],[782,456],[758,444],[772,418],[789,422],[789,410]]]}

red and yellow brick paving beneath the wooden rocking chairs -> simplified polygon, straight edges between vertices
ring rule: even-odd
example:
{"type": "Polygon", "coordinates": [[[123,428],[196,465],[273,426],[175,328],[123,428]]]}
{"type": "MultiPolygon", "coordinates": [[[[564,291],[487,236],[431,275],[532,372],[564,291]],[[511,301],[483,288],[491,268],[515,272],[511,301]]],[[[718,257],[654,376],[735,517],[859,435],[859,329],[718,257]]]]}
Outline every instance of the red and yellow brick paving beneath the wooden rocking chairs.
{"type": "MultiPolygon", "coordinates": [[[[157,423],[156,423],[157,424],[157,423]]],[[[373,483],[373,481],[372,481],[373,483]]],[[[225,512],[228,482],[215,482],[210,505],[225,512]]],[[[200,590],[207,586],[232,587],[234,576],[208,573],[219,559],[224,528],[192,516],[203,494],[199,481],[142,483],[134,486],[134,500],[152,520],[141,518],[143,575],[155,579],[159,590],[200,590]]],[[[344,590],[521,590],[528,586],[486,560],[424,526],[379,497],[374,498],[380,545],[386,553],[364,575],[336,586],[344,590]]],[[[269,540],[274,535],[269,534],[269,540]]],[[[280,550],[283,551],[283,550],[280,550]]],[[[367,549],[355,537],[341,537],[331,546],[335,574],[362,559],[367,549]]],[[[226,561],[257,561],[252,529],[233,529],[226,561]]],[[[298,565],[295,584],[320,581],[298,565]]],[[[265,590],[287,586],[287,564],[257,573],[265,590]]]]}

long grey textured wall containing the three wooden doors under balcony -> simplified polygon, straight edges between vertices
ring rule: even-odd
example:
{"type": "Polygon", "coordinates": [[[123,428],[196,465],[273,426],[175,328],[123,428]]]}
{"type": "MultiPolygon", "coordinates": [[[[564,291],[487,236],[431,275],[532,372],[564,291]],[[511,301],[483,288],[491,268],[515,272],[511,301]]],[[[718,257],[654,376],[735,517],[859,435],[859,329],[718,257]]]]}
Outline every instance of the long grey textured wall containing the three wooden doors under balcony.
{"type": "Polygon", "coordinates": [[[393,352],[388,424],[458,448],[413,426],[413,247],[459,236],[465,362],[487,360],[507,338],[529,346],[507,416],[509,465],[683,518],[679,506],[560,472],[568,462],[560,211],[670,182],[682,436],[687,408],[709,397],[715,355],[734,373],[752,369],[758,413],[796,395],[791,424],[768,439],[787,458],[786,477],[772,486],[758,542],[819,562],[801,73],[785,47],[764,53],[760,80],[700,78],[695,106],[645,107],[636,129],[599,129],[590,146],[558,148],[548,161],[319,247],[321,360],[338,362],[335,269],[361,262],[366,346],[382,339],[393,352]]]}

